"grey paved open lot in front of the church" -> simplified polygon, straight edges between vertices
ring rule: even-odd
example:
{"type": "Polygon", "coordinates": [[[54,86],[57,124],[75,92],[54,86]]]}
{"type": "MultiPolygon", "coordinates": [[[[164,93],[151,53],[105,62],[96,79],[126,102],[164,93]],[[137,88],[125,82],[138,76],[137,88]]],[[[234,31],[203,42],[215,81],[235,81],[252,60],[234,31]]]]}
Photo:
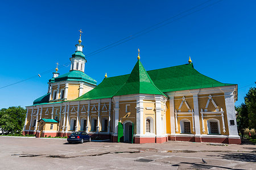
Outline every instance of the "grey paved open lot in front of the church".
{"type": "Polygon", "coordinates": [[[0,169],[256,169],[255,145],[0,137],[0,169]],[[207,163],[203,163],[202,159],[207,163]]]}

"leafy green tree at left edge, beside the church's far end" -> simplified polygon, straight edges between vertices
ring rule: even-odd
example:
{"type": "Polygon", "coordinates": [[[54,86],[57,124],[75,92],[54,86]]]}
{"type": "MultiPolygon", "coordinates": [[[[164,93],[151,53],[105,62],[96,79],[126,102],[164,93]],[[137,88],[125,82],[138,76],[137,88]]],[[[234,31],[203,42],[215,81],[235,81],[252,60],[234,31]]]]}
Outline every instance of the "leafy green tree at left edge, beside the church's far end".
{"type": "Polygon", "coordinates": [[[3,133],[20,133],[23,129],[27,109],[20,106],[0,110],[0,129],[3,133]]]}

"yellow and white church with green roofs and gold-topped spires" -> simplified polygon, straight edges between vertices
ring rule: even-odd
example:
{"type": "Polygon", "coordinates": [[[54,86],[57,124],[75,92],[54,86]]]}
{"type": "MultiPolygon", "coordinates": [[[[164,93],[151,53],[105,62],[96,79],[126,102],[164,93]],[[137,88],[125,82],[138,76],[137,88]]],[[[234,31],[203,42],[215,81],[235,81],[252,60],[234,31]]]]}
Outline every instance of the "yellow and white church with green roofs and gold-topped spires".
{"type": "Polygon", "coordinates": [[[85,74],[81,32],[68,73],[55,73],[44,96],[27,106],[23,134],[67,136],[86,131],[112,142],[167,141],[240,144],[234,102],[237,84],[220,83],[188,63],[145,70],[140,56],[130,74],[98,84],[85,74]]]}

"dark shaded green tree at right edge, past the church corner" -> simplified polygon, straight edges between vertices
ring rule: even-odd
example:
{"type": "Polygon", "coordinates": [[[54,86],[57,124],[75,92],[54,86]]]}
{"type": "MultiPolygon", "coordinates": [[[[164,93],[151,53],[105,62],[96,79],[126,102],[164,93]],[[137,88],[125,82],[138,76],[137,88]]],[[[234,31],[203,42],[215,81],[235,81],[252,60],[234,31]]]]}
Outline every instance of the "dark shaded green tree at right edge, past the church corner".
{"type": "Polygon", "coordinates": [[[256,129],[256,88],[251,87],[245,96],[245,105],[248,111],[249,126],[256,129]]]}

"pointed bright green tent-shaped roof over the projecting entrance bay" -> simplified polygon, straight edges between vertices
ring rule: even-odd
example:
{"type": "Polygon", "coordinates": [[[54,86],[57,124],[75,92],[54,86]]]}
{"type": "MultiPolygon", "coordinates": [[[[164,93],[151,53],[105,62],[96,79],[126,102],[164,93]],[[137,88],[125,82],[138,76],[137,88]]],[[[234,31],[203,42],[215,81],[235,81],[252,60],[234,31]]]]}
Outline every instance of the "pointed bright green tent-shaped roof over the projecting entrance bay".
{"type": "Polygon", "coordinates": [[[123,84],[114,96],[132,94],[164,95],[152,82],[139,59],[125,84],[123,84]]]}

